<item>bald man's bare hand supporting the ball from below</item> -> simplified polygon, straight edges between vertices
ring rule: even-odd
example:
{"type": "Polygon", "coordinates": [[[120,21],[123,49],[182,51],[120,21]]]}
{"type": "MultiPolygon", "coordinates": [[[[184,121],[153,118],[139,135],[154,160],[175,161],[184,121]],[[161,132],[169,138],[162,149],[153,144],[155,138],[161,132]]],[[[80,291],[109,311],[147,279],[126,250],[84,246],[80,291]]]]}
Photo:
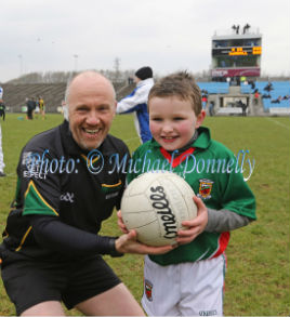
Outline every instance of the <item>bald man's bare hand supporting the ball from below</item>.
{"type": "Polygon", "coordinates": [[[136,240],[137,233],[130,230],[116,240],[116,250],[120,253],[163,254],[174,249],[174,246],[150,247],[136,240]]]}

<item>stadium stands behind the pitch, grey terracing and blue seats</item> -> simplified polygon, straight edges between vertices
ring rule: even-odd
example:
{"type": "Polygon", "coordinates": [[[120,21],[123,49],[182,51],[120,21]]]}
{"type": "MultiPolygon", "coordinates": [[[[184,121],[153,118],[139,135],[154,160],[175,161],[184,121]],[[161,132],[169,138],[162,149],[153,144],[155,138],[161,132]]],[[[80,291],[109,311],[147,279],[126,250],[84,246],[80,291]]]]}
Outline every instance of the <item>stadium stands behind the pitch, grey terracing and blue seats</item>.
{"type": "MultiPolygon", "coordinates": [[[[252,106],[253,91],[250,84],[241,84],[238,87],[238,92],[233,92],[235,87],[229,87],[228,82],[197,82],[200,90],[207,91],[208,93],[208,105],[211,101],[215,103],[215,111],[220,115],[240,115],[241,109],[235,108],[221,108],[220,96],[234,98],[245,97],[248,95],[249,107],[248,115],[253,116],[275,116],[275,115],[289,115],[290,114],[290,100],[281,100],[280,103],[272,103],[273,100],[279,96],[290,95],[290,82],[289,81],[273,81],[274,90],[271,91],[272,98],[261,98],[258,106],[252,106]],[[239,89],[240,93],[239,94],[239,89]]],[[[264,91],[267,81],[256,81],[255,89],[259,90],[261,96],[264,91]]],[[[128,84],[127,81],[115,83],[117,92],[117,100],[130,94],[135,84],[128,84]]],[[[37,97],[41,95],[45,102],[47,113],[57,113],[57,108],[61,107],[62,101],[64,100],[66,83],[30,83],[30,84],[13,84],[4,83],[1,84],[4,90],[4,102],[8,107],[8,111],[21,113],[23,107],[26,105],[25,100],[27,97],[37,97]]],[[[235,88],[236,89],[236,88],[235,88]]]]}

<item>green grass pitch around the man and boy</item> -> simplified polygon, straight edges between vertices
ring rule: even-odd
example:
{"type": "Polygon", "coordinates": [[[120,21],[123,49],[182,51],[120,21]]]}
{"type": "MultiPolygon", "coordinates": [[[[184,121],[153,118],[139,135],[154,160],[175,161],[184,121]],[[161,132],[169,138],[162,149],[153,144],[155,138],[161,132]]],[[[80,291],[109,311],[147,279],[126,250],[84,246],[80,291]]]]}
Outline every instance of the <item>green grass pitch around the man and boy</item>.
{"type": "MultiPolygon", "coordinates": [[[[62,122],[61,115],[47,120],[19,120],[8,115],[1,121],[6,177],[0,179],[0,230],[14,196],[15,169],[22,147],[36,133],[62,122]]],[[[209,117],[205,126],[212,137],[235,154],[248,149],[255,160],[249,181],[256,197],[258,221],[232,233],[227,249],[224,314],[228,316],[289,316],[289,118],[209,117]]],[[[130,150],[139,145],[132,116],[117,116],[111,133],[124,140],[130,150]]],[[[246,171],[247,173],[247,171],[246,171]]],[[[103,225],[103,233],[119,235],[116,215],[103,225]]],[[[126,255],[106,260],[140,301],[143,257],[126,255]]],[[[0,315],[14,315],[0,281],[0,315]]],[[[68,313],[77,315],[76,311],[68,313]]]]}

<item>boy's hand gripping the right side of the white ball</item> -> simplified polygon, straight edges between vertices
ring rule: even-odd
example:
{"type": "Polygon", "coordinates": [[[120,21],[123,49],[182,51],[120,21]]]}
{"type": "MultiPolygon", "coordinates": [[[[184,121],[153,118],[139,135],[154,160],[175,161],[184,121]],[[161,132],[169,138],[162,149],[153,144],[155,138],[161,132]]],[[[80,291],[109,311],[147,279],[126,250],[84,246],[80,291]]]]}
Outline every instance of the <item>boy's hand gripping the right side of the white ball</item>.
{"type": "Polygon", "coordinates": [[[200,235],[208,224],[208,209],[203,201],[194,196],[194,201],[197,206],[197,217],[190,221],[183,221],[182,225],[187,227],[185,230],[179,230],[176,242],[185,245],[192,242],[198,235],[200,235]]]}

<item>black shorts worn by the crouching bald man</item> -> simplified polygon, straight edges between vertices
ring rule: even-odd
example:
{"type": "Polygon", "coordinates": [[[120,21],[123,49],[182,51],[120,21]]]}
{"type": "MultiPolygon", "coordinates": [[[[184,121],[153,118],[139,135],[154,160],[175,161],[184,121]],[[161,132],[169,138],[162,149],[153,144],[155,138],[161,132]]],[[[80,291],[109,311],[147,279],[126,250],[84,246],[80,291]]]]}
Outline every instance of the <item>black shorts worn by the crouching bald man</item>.
{"type": "Polygon", "coordinates": [[[47,301],[63,301],[68,309],[121,281],[102,256],[66,262],[31,260],[5,250],[1,275],[6,293],[21,315],[47,301]],[[14,260],[14,261],[11,261],[14,260]]]}

